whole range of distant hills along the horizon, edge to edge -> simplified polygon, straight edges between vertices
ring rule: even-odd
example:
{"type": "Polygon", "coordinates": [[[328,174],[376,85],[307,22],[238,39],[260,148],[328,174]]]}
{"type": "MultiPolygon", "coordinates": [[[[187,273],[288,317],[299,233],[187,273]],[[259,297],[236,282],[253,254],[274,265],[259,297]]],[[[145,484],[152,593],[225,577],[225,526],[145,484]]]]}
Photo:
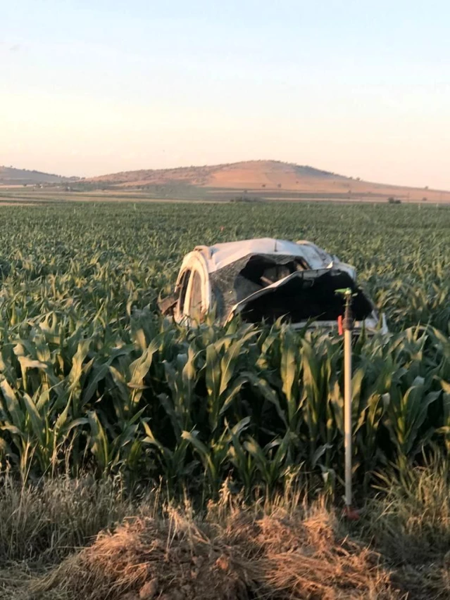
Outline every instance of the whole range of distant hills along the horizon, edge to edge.
{"type": "Polygon", "coordinates": [[[450,203],[450,191],[378,184],[292,162],[248,160],[225,165],[124,171],[80,179],[0,167],[0,187],[50,185],[63,191],[144,194],[156,200],[365,200],[450,203]]]}

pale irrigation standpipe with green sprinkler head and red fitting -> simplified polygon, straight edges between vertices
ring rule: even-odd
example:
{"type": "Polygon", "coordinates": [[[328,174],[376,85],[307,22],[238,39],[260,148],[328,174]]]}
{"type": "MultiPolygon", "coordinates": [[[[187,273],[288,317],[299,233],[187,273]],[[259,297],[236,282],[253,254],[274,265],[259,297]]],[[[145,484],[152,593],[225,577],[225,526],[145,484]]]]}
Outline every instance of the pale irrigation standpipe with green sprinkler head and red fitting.
{"type": "MultiPolygon", "coordinates": [[[[351,508],[351,402],[353,393],[351,390],[351,338],[354,330],[353,313],[351,312],[351,301],[353,292],[350,288],[337,290],[344,296],[345,310],[342,319],[342,330],[344,331],[344,452],[345,452],[345,510],[344,514],[351,519],[358,518],[358,513],[351,508]]],[[[339,323],[341,325],[341,323],[339,323]]],[[[340,329],[340,327],[339,327],[340,329]]]]}

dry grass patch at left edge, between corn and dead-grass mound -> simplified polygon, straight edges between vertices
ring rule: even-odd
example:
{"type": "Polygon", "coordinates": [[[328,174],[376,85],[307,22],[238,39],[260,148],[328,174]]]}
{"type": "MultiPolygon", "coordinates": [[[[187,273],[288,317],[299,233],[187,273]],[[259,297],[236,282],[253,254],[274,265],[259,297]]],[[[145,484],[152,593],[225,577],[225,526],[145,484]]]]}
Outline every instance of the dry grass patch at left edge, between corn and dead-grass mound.
{"type": "Polygon", "coordinates": [[[0,564],[54,563],[130,513],[151,511],[125,496],[120,482],[61,477],[22,485],[0,480],[0,564]]]}

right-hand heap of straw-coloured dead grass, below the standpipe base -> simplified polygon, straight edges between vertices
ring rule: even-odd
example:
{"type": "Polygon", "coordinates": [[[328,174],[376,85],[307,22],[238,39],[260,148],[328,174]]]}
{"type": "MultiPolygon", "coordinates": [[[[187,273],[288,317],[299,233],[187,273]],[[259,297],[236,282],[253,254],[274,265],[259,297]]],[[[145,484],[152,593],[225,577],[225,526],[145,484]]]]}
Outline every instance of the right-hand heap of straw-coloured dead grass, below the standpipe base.
{"type": "MultiPolygon", "coordinates": [[[[260,592],[277,599],[395,599],[379,556],[339,536],[324,508],[287,516],[278,511],[255,523],[260,592]]],[[[250,540],[249,540],[250,541],[250,540]]]]}

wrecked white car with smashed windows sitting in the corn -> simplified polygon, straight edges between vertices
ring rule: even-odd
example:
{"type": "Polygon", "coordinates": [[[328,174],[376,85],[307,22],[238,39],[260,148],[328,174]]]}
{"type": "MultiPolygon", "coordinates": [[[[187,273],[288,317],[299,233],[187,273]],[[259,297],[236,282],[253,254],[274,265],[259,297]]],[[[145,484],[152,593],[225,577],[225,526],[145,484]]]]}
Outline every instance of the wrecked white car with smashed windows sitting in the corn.
{"type": "Polygon", "coordinates": [[[163,314],[195,324],[215,309],[258,323],[285,319],[304,328],[336,328],[344,313],[337,291],[351,288],[356,330],[387,332],[373,302],[356,285],[356,271],[308,241],[273,238],[197,246],[182,262],[175,291],[160,300],[163,314]]]}

